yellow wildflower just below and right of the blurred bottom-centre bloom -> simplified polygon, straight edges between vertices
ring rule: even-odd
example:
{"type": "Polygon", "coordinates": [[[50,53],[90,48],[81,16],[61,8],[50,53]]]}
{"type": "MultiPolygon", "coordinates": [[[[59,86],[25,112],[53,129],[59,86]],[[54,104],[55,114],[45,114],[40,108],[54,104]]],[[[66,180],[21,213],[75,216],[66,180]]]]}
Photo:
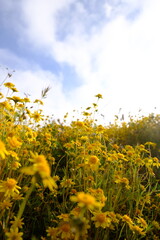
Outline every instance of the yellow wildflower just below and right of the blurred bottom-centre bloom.
{"type": "Polygon", "coordinates": [[[107,216],[107,214],[104,212],[98,212],[94,214],[94,217],[92,217],[92,220],[95,223],[96,228],[98,227],[110,227],[111,225],[111,218],[107,216]]]}

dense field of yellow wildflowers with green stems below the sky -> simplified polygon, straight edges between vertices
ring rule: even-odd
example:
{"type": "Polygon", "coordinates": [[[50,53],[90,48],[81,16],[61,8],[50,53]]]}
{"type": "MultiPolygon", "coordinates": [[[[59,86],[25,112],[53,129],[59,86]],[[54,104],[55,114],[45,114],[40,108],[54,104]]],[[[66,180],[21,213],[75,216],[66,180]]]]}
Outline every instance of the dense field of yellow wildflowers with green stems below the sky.
{"type": "Polygon", "coordinates": [[[0,240],[160,239],[159,116],[102,126],[93,104],[68,125],[43,116],[48,89],[3,87],[0,240]]]}

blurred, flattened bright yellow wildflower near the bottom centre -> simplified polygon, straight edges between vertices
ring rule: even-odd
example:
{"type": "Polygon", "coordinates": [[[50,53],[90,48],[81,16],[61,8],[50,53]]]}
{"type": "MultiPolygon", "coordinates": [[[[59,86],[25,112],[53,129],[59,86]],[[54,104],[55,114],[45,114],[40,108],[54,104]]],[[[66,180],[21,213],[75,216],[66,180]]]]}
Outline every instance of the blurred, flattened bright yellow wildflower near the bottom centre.
{"type": "Polygon", "coordinates": [[[79,207],[87,207],[93,209],[97,206],[96,199],[87,193],[79,192],[76,196],[71,196],[72,202],[78,202],[79,207]]]}

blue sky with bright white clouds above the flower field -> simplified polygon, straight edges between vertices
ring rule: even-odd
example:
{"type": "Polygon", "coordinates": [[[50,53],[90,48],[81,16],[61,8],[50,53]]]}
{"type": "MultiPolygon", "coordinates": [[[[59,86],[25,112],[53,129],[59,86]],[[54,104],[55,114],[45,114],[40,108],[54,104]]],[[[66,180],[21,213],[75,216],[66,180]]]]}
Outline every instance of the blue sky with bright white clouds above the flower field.
{"type": "Polygon", "coordinates": [[[45,113],[95,102],[105,120],[159,110],[159,0],[0,0],[0,80],[20,92],[52,88],[45,113]]]}

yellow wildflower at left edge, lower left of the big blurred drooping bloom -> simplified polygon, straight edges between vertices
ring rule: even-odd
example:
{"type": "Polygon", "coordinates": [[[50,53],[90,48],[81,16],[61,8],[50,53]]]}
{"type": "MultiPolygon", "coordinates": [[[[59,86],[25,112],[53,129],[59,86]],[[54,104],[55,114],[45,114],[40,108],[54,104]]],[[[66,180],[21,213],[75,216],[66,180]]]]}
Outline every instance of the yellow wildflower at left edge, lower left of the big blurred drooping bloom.
{"type": "Polygon", "coordinates": [[[6,181],[0,182],[0,192],[4,192],[4,196],[10,197],[14,193],[19,193],[21,187],[17,186],[17,181],[14,178],[7,178],[6,181]]]}

